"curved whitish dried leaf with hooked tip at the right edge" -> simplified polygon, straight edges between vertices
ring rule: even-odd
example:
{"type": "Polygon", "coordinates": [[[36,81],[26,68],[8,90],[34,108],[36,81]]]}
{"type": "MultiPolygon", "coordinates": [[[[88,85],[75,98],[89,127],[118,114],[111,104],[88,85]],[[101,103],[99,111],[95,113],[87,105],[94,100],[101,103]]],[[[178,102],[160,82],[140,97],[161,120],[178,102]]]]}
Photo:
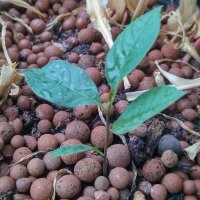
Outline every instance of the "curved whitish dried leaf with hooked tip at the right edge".
{"type": "Polygon", "coordinates": [[[162,62],[163,60],[156,61],[156,66],[160,70],[160,72],[165,76],[165,78],[168,79],[170,83],[172,83],[175,86],[191,86],[191,87],[200,87],[200,78],[196,79],[185,79],[185,78],[180,78],[174,74],[171,74],[165,70],[163,70],[159,63],[162,62]]]}

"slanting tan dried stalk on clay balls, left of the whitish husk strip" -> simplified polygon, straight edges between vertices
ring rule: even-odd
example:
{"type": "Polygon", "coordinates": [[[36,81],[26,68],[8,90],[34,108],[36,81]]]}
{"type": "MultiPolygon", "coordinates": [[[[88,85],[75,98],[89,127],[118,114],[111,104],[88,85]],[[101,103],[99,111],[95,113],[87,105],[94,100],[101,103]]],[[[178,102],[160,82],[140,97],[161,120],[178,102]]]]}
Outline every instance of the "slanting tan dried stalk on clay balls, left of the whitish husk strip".
{"type": "Polygon", "coordinates": [[[77,15],[78,13],[83,12],[83,11],[85,11],[85,8],[80,7],[80,8],[74,9],[72,12],[62,13],[58,15],[52,22],[49,22],[46,26],[47,27],[46,29],[51,30],[58,22],[60,22],[65,17],[77,15]]]}

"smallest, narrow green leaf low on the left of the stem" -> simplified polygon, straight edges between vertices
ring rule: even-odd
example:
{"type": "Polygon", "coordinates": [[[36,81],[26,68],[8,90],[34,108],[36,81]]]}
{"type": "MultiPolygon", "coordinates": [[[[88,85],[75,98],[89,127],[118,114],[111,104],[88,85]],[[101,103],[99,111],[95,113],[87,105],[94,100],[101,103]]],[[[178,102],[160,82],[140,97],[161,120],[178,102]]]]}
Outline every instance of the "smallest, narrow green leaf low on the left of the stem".
{"type": "Polygon", "coordinates": [[[69,144],[69,145],[61,146],[55,149],[54,151],[51,152],[51,156],[52,157],[65,156],[69,154],[89,151],[92,149],[93,147],[85,145],[85,144],[69,144]]]}

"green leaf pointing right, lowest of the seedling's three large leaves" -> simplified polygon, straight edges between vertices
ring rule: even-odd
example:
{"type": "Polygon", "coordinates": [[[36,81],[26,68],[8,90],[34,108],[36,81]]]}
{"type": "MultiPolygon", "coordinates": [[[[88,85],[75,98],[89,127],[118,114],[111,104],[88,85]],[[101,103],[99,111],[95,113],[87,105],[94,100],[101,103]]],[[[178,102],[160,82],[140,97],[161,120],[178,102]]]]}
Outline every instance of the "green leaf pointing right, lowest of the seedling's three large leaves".
{"type": "Polygon", "coordinates": [[[124,134],[160,113],[186,93],[171,86],[155,87],[130,103],[113,123],[112,131],[124,134]]]}

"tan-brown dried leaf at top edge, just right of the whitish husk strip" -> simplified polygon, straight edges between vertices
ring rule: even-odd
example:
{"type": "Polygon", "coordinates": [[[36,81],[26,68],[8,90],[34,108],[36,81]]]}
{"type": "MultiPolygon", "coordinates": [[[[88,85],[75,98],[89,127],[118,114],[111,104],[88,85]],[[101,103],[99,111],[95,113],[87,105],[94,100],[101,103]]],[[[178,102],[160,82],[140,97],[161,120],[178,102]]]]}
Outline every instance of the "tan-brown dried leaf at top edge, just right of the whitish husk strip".
{"type": "Polygon", "coordinates": [[[115,12],[112,19],[117,22],[121,22],[126,8],[125,0],[109,0],[108,8],[115,12]]]}

